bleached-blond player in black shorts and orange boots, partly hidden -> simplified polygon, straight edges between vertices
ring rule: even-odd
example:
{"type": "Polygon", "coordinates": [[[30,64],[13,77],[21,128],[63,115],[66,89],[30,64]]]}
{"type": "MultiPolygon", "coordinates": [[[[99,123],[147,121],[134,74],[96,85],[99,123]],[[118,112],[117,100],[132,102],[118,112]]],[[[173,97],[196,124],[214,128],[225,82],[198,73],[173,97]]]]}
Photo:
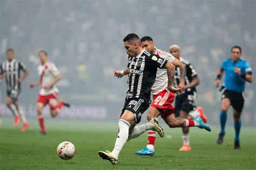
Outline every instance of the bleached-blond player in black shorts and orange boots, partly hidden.
{"type": "MultiPolygon", "coordinates": [[[[174,57],[176,57],[186,65],[185,88],[184,88],[184,91],[179,96],[176,96],[176,100],[175,100],[176,117],[191,119],[191,117],[194,118],[199,116],[200,118],[203,119],[204,123],[206,123],[207,118],[204,115],[203,108],[198,107],[196,109],[196,104],[197,104],[196,86],[199,84],[199,78],[197,76],[197,72],[194,69],[192,64],[190,64],[184,58],[180,57],[180,47],[178,45],[171,45],[169,49],[170,49],[170,53],[174,57]]],[[[180,69],[176,68],[174,84],[179,84],[179,81],[180,81],[180,69]]],[[[182,131],[183,131],[183,134],[182,134],[183,146],[179,149],[179,151],[191,151],[189,128],[183,127],[182,131]]]]}

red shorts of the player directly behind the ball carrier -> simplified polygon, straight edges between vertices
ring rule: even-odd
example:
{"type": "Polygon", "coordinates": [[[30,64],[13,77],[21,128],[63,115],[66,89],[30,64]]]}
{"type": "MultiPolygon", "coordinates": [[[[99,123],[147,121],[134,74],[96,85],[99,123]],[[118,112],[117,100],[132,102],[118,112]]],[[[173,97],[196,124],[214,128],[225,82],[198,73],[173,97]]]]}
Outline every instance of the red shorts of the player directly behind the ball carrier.
{"type": "Polygon", "coordinates": [[[175,108],[172,106],[174,96],[174,93],[167,89],[153,95],[154,101],[151,106],[157,108],[161,112],[161,118],[167,118],[175,112],[175,108]]]}

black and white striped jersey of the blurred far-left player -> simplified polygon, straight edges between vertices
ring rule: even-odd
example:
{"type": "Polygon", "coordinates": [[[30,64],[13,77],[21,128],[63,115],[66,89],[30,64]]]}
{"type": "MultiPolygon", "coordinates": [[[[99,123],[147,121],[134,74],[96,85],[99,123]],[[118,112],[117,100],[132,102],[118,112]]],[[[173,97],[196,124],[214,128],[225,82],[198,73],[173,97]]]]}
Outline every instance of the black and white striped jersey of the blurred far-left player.
{"type": "Polygon", "coordinates": [[[5,76],[7,91],[21,89],[21,84],[17,79],[21,77],[20,72],[24,70],[26,70],[24,63],[16,59],[1,63],[0,74],[5,76]]]}

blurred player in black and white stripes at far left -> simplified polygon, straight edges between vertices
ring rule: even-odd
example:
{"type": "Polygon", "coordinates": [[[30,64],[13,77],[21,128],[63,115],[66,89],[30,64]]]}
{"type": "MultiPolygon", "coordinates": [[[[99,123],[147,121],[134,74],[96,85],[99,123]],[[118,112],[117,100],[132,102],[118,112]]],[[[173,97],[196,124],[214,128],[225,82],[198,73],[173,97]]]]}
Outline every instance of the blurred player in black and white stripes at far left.
{"type": "Polygon", "coordinates": [[[25,115],[18,104],[18,96],[21,93],[21,83],[28,76],[29,72],[23,62],[14,59],[14,49],[6,50],[7,60],[0,65],[0,79],[5,76],[6,87],[7,87],[7,98],[6,106],[14,114],[14,126],[19,125],[19,120],[22,120],[22,132],[26,131],[29,126],[29,122],[26,120],[25,115]],[[21,71],[24,72],[21,77],[21,71]]]}

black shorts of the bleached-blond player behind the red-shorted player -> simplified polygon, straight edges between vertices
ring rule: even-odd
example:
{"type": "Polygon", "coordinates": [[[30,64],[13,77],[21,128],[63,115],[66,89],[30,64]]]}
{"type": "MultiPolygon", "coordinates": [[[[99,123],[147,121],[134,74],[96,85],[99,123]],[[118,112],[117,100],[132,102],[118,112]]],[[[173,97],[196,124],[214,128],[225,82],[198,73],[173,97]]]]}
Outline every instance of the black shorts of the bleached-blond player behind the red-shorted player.
{"type": "Polygon", "coordinates": [[[179,117],[179,112],[184,111],[189,113],[197,107],[197,93],[195,91],[190,93],[183,93],[175,98],[175,116],[179,117]]]}

